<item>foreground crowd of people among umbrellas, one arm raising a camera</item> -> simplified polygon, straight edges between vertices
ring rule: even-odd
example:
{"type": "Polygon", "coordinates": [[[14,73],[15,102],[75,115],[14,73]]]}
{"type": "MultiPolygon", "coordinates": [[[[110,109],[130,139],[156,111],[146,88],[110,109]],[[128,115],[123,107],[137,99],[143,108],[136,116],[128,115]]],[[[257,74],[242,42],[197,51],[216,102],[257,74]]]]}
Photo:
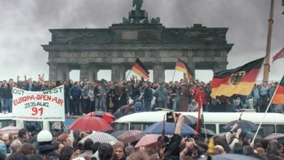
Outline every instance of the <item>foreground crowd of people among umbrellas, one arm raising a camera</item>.
{"type": "Polygon", "coordinates": [[[175,117],[175,132],[172,135],[160,135],[153,144],[139,147],[135,147],[137,142],[100,143],[89,138],[81,142],[92,132],[28,132],[20,129],[16,136],[1,135],[0,160],[192,160],[229,154],[263,160],[284,159],[283,144],[266,139],[256,139],[251,143],[238,124],[224,136],[217,135],[203,141],[182,137],[183,121],[180,114],[175,117]]]}

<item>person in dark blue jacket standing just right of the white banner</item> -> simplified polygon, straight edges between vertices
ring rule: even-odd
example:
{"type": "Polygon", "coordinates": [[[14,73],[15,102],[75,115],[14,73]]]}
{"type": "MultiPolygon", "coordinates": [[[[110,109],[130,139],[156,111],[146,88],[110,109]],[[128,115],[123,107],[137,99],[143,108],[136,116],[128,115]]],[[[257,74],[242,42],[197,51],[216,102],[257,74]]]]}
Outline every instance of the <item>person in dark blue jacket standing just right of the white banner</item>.
{"type": "Polygon", "coordinates": [[[78,82],[75,82],[74,86],[70,88],[69,96],[71,100],[70,113],[72,115],[74,114],[79,115],[80,114],[79,103],[80,103],[80,97],[81,97],[81,89],[78,85],[78,82]]]}

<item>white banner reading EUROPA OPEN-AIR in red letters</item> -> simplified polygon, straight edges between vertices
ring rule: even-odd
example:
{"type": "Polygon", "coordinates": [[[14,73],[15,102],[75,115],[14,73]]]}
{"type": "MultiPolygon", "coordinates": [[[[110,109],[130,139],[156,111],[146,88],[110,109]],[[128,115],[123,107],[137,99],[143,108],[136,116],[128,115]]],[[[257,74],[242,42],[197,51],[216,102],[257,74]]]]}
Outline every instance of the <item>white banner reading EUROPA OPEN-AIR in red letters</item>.
{"type": "Polygon", "coordinates": [[[64,86],[31,92],[13,87],[13,119],[65,121],[64,86]]]}

